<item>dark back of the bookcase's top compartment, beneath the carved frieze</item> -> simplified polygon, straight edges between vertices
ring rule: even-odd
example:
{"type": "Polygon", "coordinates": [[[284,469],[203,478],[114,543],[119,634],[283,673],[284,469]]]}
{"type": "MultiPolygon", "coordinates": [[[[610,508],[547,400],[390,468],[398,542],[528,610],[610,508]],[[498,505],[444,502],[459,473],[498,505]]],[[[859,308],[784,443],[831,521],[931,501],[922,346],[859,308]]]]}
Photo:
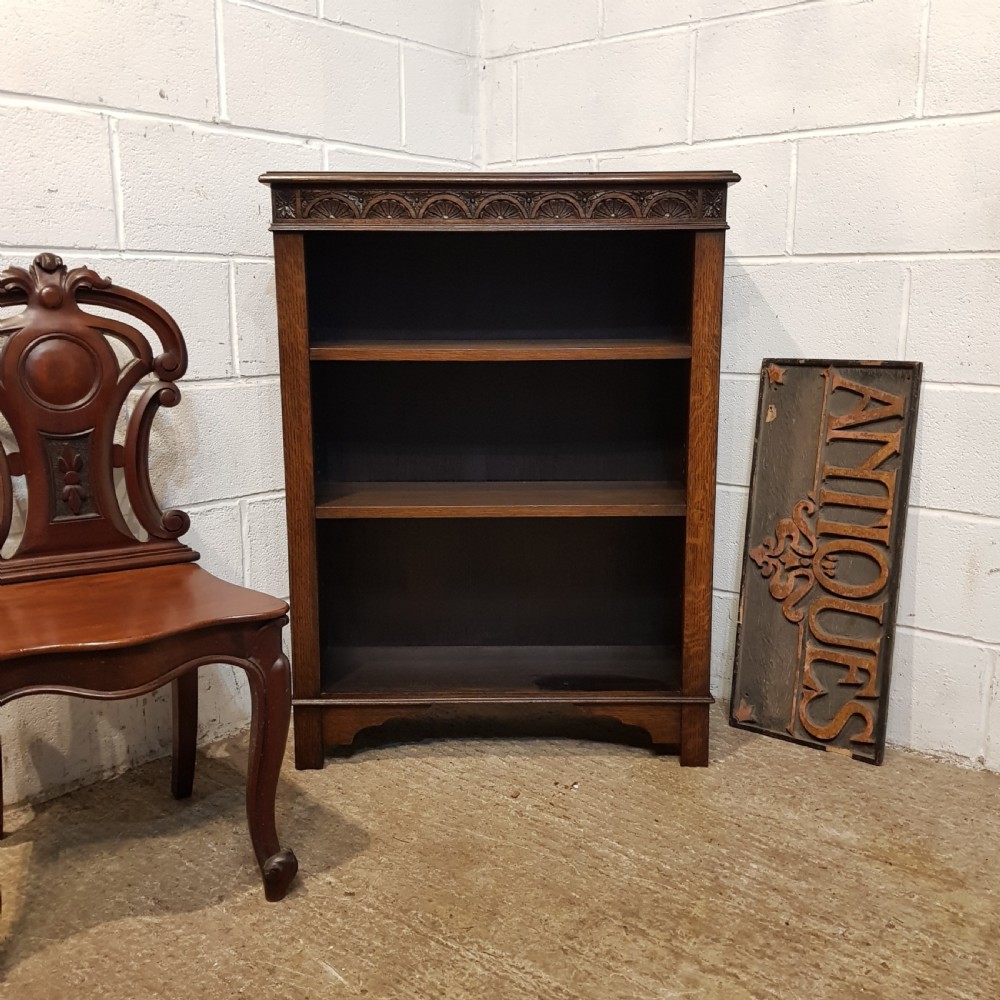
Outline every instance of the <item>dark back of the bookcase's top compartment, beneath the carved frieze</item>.
{"type": "Polygon", "coordinates": [[[310,340],[690,340],[692,239],[628,230],[310,235],[310,340]]]}

